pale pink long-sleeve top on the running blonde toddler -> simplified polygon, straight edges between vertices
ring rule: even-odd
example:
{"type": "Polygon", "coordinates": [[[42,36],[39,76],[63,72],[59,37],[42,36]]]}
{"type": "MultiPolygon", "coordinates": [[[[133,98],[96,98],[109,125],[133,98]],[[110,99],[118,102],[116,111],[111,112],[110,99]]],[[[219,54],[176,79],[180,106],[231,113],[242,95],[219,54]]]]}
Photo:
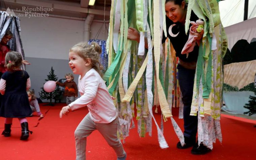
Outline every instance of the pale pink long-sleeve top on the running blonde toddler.
{"type": "Polygon", "coordinates": [[[79,76],[78,91],[81,97],[69,104],[72,110],[87,106],[95,123],[110,123],[117,118],[113,99],[95,69],[90,69],[82,79],[79,76]]]}

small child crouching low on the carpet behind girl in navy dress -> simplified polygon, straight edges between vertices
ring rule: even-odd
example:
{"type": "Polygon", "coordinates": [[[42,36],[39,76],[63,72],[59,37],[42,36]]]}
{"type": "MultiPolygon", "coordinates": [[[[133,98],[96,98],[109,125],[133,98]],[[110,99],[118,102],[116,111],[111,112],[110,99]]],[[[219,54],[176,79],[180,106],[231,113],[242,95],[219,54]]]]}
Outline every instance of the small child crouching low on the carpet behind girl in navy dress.
{"type": "MultiPolygon", "coordinates": [[[[42,118],[43,114],[40,111],[40,107],[38,104],[38,101],[36,99],[35,93],[31,90],[27,90],[28,93],[28,100],[29,100],[29,104],[30,104],[30,108],[32,109],[33,112],[37,112],[37,116],[42,118]]],[[[32,116],[32,114],[30,115],[32,116]]]]}

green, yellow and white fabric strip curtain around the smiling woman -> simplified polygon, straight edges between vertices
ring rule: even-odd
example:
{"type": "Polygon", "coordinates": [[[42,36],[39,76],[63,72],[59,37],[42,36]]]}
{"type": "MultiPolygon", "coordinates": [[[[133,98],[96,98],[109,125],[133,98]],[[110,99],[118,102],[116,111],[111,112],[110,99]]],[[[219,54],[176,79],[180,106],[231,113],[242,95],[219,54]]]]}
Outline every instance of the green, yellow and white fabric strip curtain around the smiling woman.
{"type": "MultiPolygon", "coordinates": [[[[178,59],[168,38],[164,45],[161,44],[162,35],[166,35],[164,8],[165,0],[111,2],[106,42],[108,69],[103,76],[109,93],[117,97],[115,103],[119,115],[119,136],[125,139],[129,135],[129,129],[134,127],[132,118],[136,111],[139,136],[144,137],[147,132],[152,134],[153,119],[161,148],[167,148],[168,144],[163,136],[163,123],[159,126],[154,118],[153,105],[160,106],[162,121],[171,119],[175,133],[184,145],[183,133],[171,112],[172,107],[180,106],[179,117],[183,117],[182,95],[176,78],[178,59]],[[127,39],[128,27],[139,31],[139,44],[127,39]],[[145,38],[148,40],[148,50],[144,48],[145,38]]],[[[200,42],[191,115],[198,115],[198,143],[202,142],[212,149],[216,138],[222,140],[222,58],[227,49],[223,44],[227,39],[220,23],[216,0],[188,0],[186,32],[191,10],[206,22],[200,42]]]]}

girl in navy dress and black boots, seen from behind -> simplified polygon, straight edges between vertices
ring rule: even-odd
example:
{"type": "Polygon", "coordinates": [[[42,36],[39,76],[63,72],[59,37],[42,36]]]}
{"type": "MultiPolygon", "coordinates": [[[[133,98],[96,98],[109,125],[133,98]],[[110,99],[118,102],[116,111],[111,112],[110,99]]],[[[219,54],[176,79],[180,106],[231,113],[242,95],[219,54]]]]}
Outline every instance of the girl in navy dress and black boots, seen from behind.
{"type": "Polygon", "coordinates": [[[30,88],[30,78],[26,71],[21,70],[22,56],[18,52],[8,52],[5,56],[7,71],[0,80],[0,93],[3,95],[0,106],[0,117],[5,117],[2,135],[9,137],[13,118],[21,123],[21,140],[26,140],[29,133],[26,117],[32,114],[27,90],[30,88]]]}

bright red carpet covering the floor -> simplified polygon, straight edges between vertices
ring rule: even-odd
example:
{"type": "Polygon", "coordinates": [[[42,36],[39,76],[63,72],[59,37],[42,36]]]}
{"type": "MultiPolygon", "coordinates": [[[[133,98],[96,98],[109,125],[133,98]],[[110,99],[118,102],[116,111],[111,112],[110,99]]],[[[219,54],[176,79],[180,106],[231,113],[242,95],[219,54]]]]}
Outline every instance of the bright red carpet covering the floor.
{"type": "MultiPolygon", "coordinates": [[[[79,122],[88,113],[86,107],[59,118],[59,111],[65,103],[43,106],[41,112],[45,117],[38,121],[38,117],[28,117],[29,129],[33,131],[27,141],[21,141],[21,128],[18,119],[13,119],[11,137],[0,136],[1,160],[74,160],[75,141],[74,130],[79,122]],[[39,122],[39,123],[38,123],[39,122]]],[[[173,108],[173,116],[179,126],[183,128],[183,120],[178,119],[178,110],[173,108]]],[[[155,114],[160,124],[161,115],[155,114]]],[[[137,122],[134,119],[135,123],[137,122]]],[[[217,141],[214,149],[206,155],[192,155],[190,149],[176,148],[178,138],[174,133],[171,121],[164,123],[164,136],[169,145],[161,149],[158,145],[156,126],[153,124],[152,137],[140,138],[137,127],[130,131],[130,136],[123,144],[127,152],[127,160],[250,160],[255,159],[256,152],[256,121],[243,118],[234,118],[222,115],[221,127],[223,134],[222,144],[217,141]],[[253,158],[254,157],[254,158],[253,158]]],[[[0,118],[0,133],[4,130],[4,118],[0,118]]],[[[110,148],[98,131],[94,131],[87,138],[88,160],[116,160],[115,152],[110,148]]]]}

